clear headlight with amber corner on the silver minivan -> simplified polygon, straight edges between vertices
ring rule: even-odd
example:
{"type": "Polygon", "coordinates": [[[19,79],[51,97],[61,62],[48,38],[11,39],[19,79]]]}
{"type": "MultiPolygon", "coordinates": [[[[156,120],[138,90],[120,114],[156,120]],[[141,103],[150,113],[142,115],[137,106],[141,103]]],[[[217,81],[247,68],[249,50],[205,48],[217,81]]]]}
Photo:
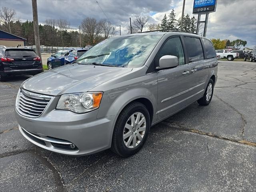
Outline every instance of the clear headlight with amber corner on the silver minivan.
{"type": "Polygon", "coordinates": [[[89,112],[99,108],[102,94],[102,92],[63,94],[56,109],[70,110],[76,113],[89,112]]]}

